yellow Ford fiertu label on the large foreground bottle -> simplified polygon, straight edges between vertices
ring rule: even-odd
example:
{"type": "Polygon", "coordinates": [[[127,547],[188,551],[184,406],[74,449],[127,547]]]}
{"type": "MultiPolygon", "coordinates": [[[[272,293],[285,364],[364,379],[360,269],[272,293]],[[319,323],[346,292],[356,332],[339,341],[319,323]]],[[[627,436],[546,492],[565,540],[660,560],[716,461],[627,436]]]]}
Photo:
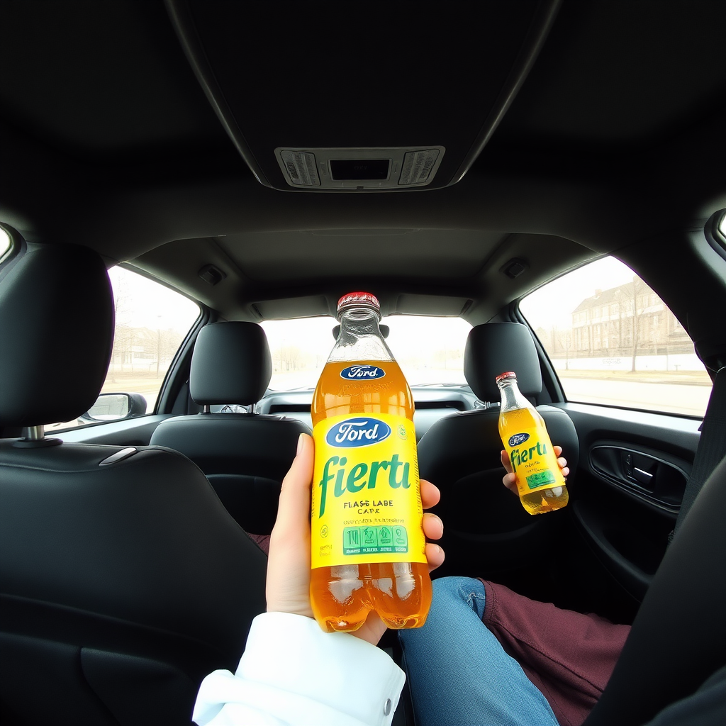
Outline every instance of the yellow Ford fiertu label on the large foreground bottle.
{"type": "Polygon", "coordinates": [[[313,429],[311,566],[426,562],[412,421],[333,416],[313,429]]]}

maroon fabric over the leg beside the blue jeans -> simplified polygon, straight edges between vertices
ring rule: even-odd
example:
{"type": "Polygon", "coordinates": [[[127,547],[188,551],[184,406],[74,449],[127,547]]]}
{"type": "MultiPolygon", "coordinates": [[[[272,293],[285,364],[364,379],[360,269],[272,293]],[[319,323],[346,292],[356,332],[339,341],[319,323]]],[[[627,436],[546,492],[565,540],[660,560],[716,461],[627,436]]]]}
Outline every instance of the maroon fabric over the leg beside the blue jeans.
{"type": "Polygon", "coordinates": [[[607,684],[630,632],[597,615],[537,603],[484,582],[484,624],[542,692],[560,726],[580,726],[607,684]]]}

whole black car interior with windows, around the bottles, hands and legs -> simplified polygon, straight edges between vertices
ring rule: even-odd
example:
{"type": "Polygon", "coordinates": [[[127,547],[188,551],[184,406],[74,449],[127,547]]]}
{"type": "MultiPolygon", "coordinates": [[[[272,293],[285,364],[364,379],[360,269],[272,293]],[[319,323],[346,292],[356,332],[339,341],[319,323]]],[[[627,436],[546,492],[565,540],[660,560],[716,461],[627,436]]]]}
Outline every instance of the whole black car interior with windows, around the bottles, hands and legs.
{"type": "Polygon", "coordinates": [[[586,726],[726,666],[725,21],[1,1],[0,721],[189,724],[234,671],[352,290],[441,490],[432,576],[632,625],[586,726]],[[502,486],[507,370],[558,512],[502,486]]]}

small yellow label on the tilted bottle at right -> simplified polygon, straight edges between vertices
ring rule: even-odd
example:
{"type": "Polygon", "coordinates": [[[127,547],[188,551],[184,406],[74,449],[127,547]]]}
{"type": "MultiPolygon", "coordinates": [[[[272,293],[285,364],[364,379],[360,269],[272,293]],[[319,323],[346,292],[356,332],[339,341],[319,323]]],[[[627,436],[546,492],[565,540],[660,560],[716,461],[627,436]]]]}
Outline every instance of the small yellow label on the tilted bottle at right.
{"type": "Polygon", "coordinates": [[[565,484],[546,429],[542,431],[537,425],[520,427],[503,443],[517,476],[520,496],[565,484]]]}

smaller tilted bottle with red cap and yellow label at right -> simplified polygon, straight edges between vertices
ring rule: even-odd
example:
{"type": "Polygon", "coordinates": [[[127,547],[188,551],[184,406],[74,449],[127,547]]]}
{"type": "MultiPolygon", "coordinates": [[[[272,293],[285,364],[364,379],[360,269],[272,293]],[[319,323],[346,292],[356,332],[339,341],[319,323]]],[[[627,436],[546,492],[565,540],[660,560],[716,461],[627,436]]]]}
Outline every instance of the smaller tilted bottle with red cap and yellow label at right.
{"type": "Polygon", "coordinates": [[[552,450],[552,441],[537,409],[522,395],[513,372],[497,376],[502,394],[499,436],[517,476],[522,506],[530,514],[565,507],[569,495],[565,478],[552,450]]]}

